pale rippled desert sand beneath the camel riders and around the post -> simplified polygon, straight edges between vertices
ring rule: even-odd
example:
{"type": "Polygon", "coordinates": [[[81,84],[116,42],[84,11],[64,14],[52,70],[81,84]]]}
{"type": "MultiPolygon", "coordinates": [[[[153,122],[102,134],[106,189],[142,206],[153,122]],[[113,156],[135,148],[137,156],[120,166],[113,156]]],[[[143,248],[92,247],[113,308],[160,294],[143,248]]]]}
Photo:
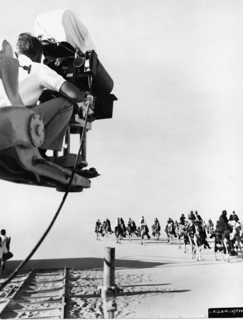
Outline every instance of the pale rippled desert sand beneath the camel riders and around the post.
{"type": "MultiPolygon", "coordinates": [[[[96,240],[89,233],[77,258],[31,260],[29,268],[69,268],[69,297],[66,319],[103,318],[102,299],[97,295],[103,285],[105,247],[115,247],[116,284],[123,290],[116,298],[115,318],[208,318],[208,308],[242,307],[243,259],[230,257],[215,261],[212,249],[202,249],[202,260],[191,259],[190,247],[178,249],[177,240],[166,242],[151,237],[146,245],[124,238],[116,243],[114,235],[96,240]]],[[[8,271],[18,261],[9,261],[8,271]]],[[[23,270],[23,272],[25,272],[23,270]]]]}

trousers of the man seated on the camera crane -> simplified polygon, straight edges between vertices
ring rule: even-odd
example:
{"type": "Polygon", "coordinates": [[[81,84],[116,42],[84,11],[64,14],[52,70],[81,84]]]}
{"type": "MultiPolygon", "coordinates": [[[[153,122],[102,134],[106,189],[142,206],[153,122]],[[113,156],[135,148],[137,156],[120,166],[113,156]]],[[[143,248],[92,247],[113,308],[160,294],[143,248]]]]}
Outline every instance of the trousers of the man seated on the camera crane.
{"type": "Polygon", "coordinates": [[[35,111],[44,123],[45,135],[41,148],[61,151],[73,103],[64,97],[59,97],[28,108],[35,111]]]}

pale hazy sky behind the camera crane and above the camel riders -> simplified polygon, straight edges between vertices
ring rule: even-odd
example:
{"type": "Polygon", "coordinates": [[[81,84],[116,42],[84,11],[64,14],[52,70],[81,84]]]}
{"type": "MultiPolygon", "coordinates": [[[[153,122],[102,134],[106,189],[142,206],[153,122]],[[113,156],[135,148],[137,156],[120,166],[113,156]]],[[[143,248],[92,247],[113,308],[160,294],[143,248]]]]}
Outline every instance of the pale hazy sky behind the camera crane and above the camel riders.
{"type": "MultiPolygon", "coordinates": [[[[118,101],[87,134],[88,168],[101,176],[69,194],[35,257],[50,257],[51,239],[61,251],[67,234],[93,232],[97,219],[163,226],[190,210],[214,222],[235,210],[243,220],[243,1],[0,0],[0,38],[15,50],[18,34],[55,9],[87,27],[118,101]]],[[[1,180],[0,197],[0,228],[24,258],[63,194],[1,180]]]]}

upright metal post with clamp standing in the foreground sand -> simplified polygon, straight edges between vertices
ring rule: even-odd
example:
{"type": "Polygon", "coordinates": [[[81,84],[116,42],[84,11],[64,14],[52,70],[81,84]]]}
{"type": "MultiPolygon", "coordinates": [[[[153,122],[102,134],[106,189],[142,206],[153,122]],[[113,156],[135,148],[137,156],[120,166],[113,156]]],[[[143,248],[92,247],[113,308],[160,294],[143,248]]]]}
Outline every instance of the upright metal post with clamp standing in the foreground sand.
{"type": "Polygon", "coordinates": [[[115,248],[105,248],[104,286],[102,288],[104,319],[114,319],[114,312],[117,310],[116,293],[115,248]]]}

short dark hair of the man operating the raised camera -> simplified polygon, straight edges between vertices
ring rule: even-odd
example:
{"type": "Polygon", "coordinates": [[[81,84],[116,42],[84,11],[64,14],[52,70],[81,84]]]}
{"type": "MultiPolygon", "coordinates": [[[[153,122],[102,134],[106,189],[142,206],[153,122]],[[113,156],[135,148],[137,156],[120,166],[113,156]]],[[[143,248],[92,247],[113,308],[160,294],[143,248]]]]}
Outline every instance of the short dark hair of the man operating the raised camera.
{"type": "Polygon", "coordinates": [[[40,40],[29,33],[19,34],[16,48],[18,54],[24,54],[29,58],[35,57],[37,53],[43,51],[40,40]]]}

